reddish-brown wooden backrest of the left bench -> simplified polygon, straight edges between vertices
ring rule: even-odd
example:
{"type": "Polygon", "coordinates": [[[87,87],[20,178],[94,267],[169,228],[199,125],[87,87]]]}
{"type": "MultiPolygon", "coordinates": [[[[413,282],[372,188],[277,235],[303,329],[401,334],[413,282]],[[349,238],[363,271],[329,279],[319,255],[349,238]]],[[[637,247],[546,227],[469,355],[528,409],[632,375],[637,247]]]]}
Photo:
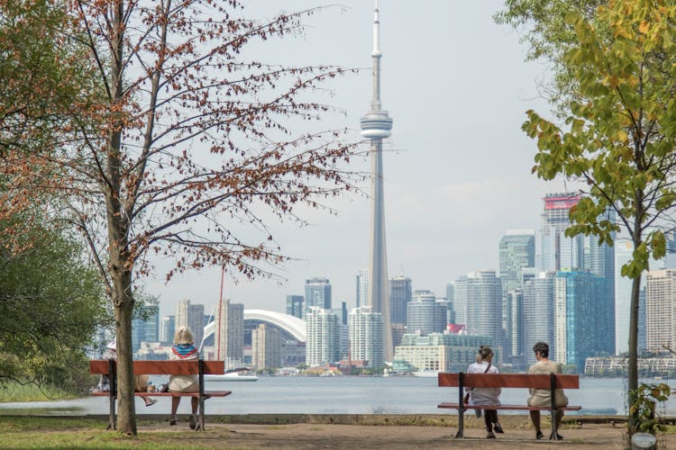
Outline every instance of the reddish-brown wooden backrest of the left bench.
{"type": "MultiPolygon", "coordinates": [[[[203,361],[204,374],[219,374],[225,372],[224,361],[203,361]]],[[[107,359],[93,359],[89,361],[90,374],[109,374],[107,359]]],[[[134,361],[134,374],[147,375],[198,375],[199,360],[188,361],[134,361]]]]}

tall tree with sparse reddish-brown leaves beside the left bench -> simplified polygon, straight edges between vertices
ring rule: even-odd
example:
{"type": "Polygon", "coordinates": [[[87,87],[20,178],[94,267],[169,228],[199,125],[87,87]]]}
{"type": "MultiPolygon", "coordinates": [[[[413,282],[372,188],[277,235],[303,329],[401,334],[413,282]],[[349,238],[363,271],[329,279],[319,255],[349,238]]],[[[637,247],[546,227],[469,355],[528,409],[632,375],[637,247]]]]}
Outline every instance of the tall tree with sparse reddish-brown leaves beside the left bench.
{"type": "Polygon", "coordinates": [[[272,275],[287,257],[269,216],[302,224],[297,206],[330,210],[321,199],[362,178],[345,169],[357,149],[341,143],[343,131],[297,131],[331,110],[309,94],[343,69],[281,67],[250,53],[253,42],[302,31],[316,10],[261,23],[244,18],[238,0],[65,7],[69,51],[94,78],[84,74],[59,146],[32,153],[31,164],[11,155],[23,164],[5,166],[21,168],[4,193],[32,186],[23,198],[47,195],[87,239],[114,307],[118,429],[135,435],[133,291],[151,257],[176,261],[168,278],[204,266],[272,275]]]}

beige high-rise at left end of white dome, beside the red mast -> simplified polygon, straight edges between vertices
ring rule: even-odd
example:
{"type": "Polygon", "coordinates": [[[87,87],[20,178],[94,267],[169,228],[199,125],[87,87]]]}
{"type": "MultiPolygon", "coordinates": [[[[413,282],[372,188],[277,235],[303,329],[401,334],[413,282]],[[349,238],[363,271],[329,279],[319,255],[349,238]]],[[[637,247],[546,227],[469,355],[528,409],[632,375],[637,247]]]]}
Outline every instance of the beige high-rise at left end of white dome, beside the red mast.
{"type": "Polygon", "coordinates": [[[216,358],[227,367],[239,365],[244,359],[244,305],[219,300],[214,311],[216,358]]]}

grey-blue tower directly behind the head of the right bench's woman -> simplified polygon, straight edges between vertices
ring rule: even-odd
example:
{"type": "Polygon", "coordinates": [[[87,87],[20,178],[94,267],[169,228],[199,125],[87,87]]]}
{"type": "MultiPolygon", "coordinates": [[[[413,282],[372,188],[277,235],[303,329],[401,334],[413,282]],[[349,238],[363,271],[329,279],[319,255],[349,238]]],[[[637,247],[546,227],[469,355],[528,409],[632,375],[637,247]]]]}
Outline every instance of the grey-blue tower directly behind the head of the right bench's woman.
{"type": "Polygon", "coordinates": [[[478,270],[467,275],[467,331],[488,336],[503,354],[502,286],[495,270],[478,270]]]}

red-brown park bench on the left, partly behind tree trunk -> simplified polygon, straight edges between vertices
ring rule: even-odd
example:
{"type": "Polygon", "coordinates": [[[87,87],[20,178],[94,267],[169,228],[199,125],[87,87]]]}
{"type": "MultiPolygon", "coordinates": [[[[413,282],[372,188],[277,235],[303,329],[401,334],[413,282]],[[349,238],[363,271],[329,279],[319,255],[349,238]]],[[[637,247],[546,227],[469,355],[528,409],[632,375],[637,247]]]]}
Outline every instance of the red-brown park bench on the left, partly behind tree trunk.
{"type": "MultiPolygon", "coordinates": [[[[92,392],[92,395],[108,397],[110,417],[108,429],[115,429],[115,401],[117,400],[116,361],[98,359],[89,361],[89,373],[107,375],[110,380],[110,392],[92,392]]],[[[231,391],[205,391],[205,374],[224,374],[223,361],[204,361],[192,359],[183,361],[134,361],[133,374],[141,375],[198,375],[197,392],[134,392],[137,397],[196,397],[199,399],[199,419],[196,429],[205,429],[205,401],[211,397],[225,397],[231,391]]]]}

